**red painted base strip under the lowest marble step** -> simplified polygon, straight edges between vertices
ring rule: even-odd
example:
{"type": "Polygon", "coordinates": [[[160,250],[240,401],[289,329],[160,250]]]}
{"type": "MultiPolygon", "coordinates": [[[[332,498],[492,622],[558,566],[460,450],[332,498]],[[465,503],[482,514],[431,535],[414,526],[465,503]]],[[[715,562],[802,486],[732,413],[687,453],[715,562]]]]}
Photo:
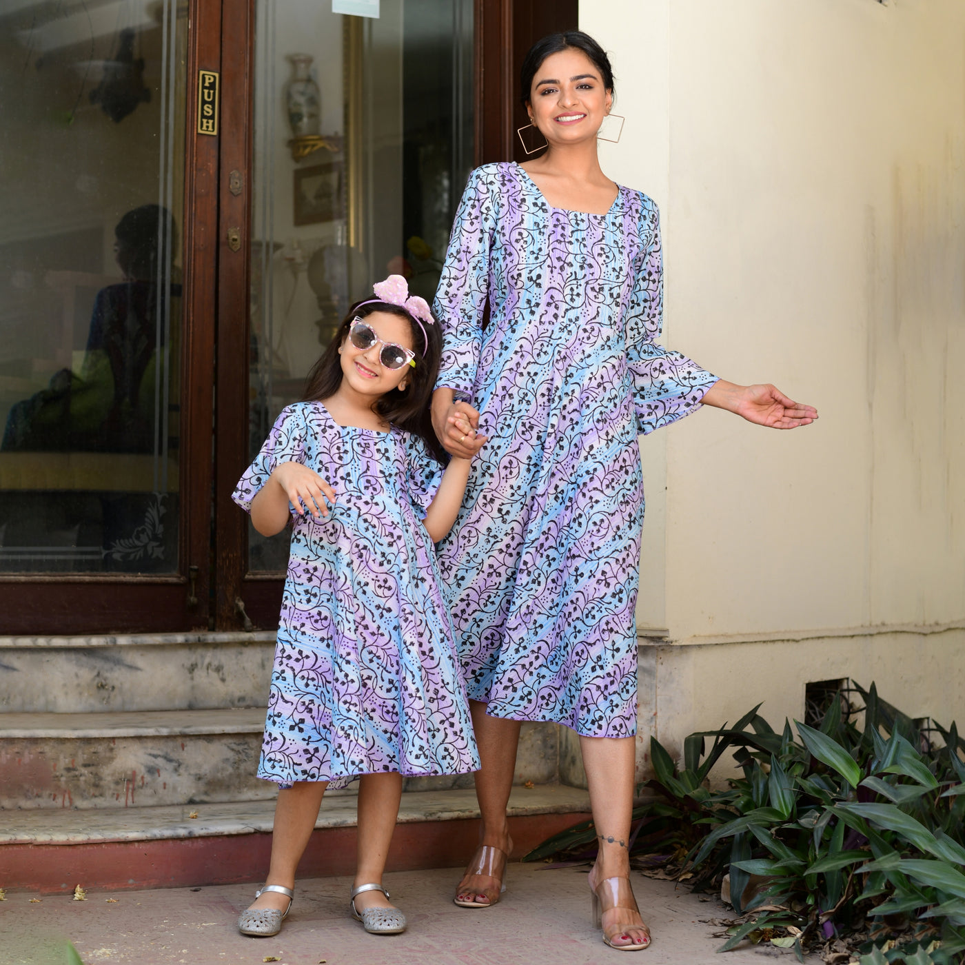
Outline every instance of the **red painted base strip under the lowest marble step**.
{"type": "MultiPolygon", "coordinates": [[[[512,858],[590,814],[531,814],[510,817],[512,858]]],[[[455,868],[479,842],[479,818],[400,824],[392,839],[389,871],[455,868]]],[[[356,829],[318,828],[297,875],[317,878],[355,869],[356,829]]],[[[185,888],[261,882],[268,869],[271,835],[225,835],[167,841],[89,844],[4,844],[0,886],[44,894],[73,891],[75,885],[102,891],[185,888]]]]}

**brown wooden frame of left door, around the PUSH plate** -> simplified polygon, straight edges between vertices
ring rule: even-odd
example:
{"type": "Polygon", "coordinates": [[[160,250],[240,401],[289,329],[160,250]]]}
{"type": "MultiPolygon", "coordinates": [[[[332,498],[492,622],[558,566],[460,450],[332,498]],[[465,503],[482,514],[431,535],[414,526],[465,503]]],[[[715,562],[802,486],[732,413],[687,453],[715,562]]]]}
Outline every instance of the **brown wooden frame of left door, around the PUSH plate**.
{"type": "Polygon", "coordinates": [[[220,18],[221,0],[191,0],[181,212],[184,283],[178,569],[165,575],[0,574],[0,634],[207,630],[216,265],[211,234],[217,214],[218,138],[192,132],[196,128],[198,70],[221,67],[220,18]],[[197,602],[189,603],[189,596],[197,602]]]}

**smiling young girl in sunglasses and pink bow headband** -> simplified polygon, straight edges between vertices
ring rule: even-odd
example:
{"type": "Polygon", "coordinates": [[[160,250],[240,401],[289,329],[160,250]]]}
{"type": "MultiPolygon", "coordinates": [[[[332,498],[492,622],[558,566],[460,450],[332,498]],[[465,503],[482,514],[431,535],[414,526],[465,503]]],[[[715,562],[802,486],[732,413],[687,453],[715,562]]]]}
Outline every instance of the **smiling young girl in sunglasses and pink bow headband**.
{"type": "Polygon", "coordinates": [[[435,458],[441,338],[427,303],[400,275],[373,288],[233,495],[264,536],[293,517],[258,771],[280,790],[267,883],[238,920],[246,935],[281,929],[322,793],[359,776],[351,912],[366,931],[404,930],[381,884],[402,776],[479,767],[432,547],[470,460],[443,472],[435,458]]]}

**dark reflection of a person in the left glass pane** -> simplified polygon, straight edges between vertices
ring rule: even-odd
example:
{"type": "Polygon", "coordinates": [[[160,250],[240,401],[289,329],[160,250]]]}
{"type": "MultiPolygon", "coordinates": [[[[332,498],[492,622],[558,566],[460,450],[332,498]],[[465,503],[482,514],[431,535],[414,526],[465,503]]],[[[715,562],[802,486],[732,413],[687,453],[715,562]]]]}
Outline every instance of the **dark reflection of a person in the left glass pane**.
{"type": "Polygon", "coordinates": [[[78,448],[153,452],[158,402],[155,379],[148,376],[158,364],[158,345],[164,347],[167,342],[168,302],[180,294],[169,267],[177,244],[176,228],[166,208],[143,205],[128,211],[114,233],[115,257],[124,282],[97,292],[80,373],[86,386],[103,391],[106,383],[111,394],[109,399],[92,399],[91,406],[72,411],[71,422],[78,448]],[[92,425],[91,409],[103,414],[98,426],[92,425]]]}

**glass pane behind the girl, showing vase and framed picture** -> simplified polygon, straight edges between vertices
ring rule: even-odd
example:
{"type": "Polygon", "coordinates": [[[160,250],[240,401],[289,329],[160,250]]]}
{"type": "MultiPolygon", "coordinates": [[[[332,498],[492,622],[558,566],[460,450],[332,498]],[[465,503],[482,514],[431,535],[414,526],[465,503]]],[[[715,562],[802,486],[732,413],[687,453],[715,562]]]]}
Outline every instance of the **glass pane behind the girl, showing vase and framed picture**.
{"type": "MultiPolygon", "coordinates": [[[[400,0],[380,14],[256,4],[252,457],[372,282],[403,274],[428,301],[438,284],[472,166],[473,3],[400,0]]],[[[286,534],[249,526],[248,545],[251,570],[286,568],[286,534]]]]}

